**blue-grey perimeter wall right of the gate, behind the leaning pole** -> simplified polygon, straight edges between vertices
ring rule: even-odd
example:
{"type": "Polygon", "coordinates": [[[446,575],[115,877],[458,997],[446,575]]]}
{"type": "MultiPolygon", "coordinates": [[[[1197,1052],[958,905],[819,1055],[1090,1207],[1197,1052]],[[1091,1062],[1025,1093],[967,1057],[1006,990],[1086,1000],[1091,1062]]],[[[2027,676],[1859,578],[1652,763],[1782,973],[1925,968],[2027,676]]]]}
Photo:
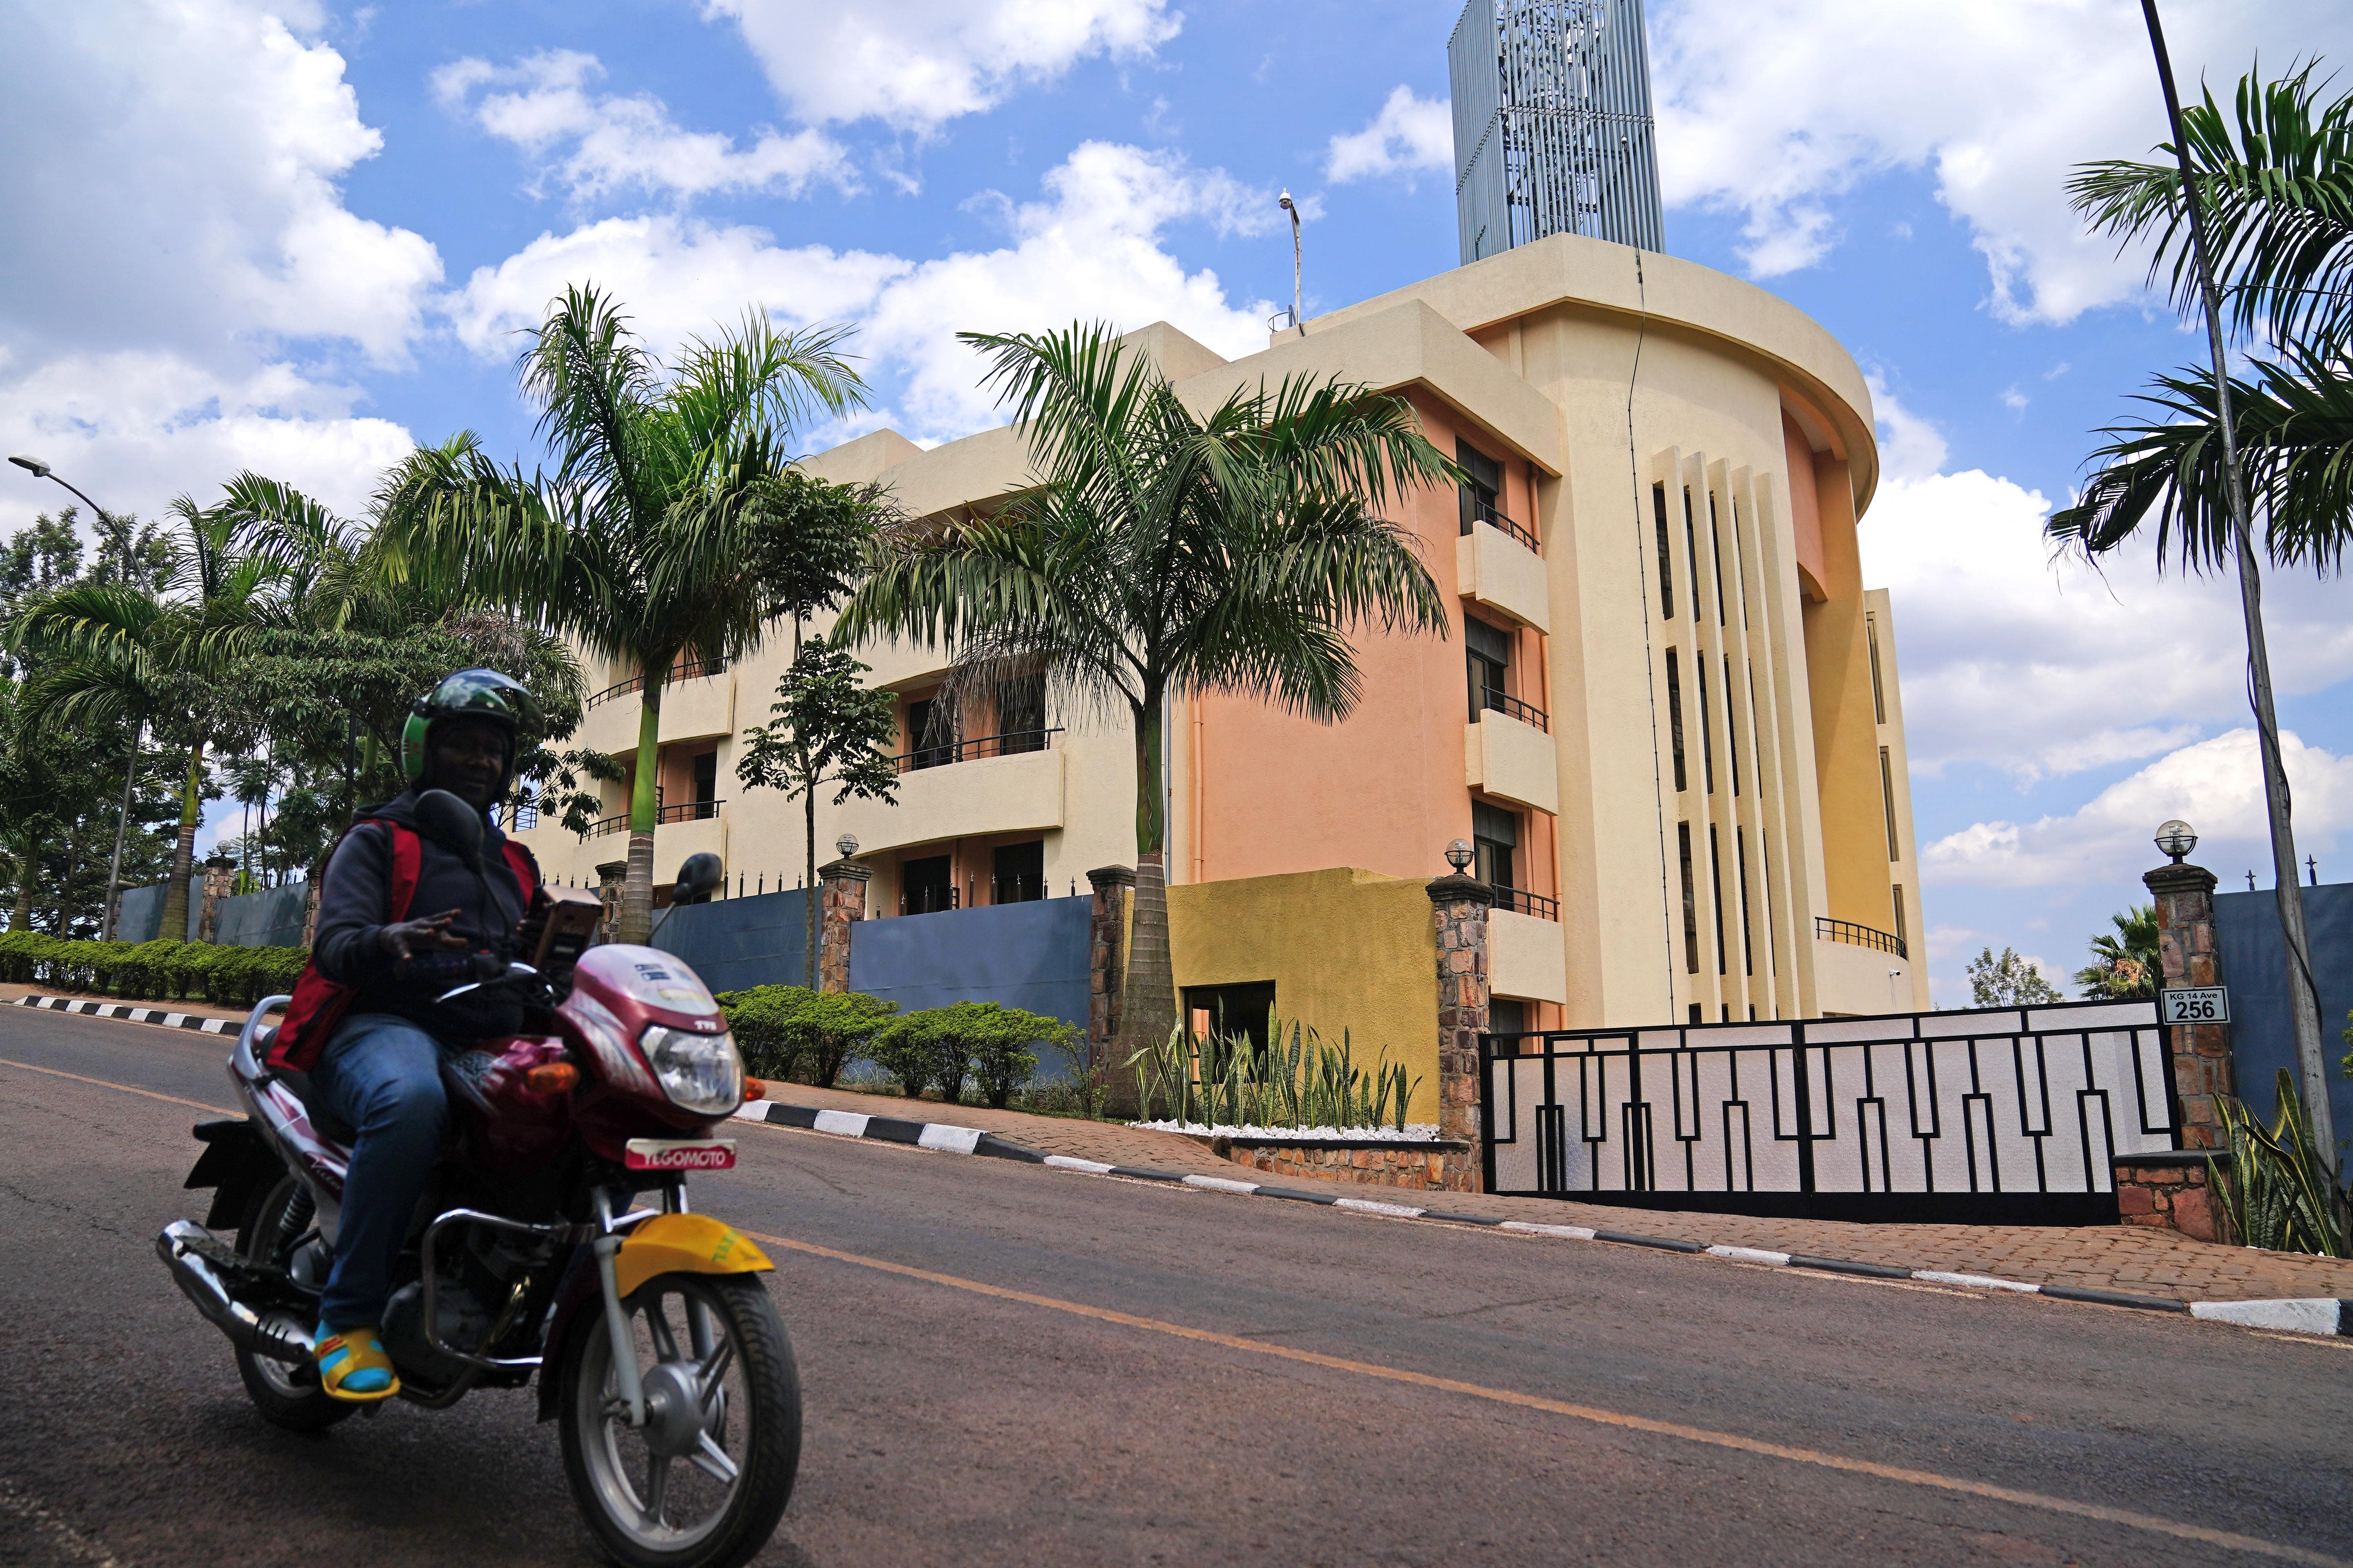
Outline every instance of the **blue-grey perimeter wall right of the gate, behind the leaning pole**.
{"type": "MultiPolygon", "coordinates": [[[[2337,1147],[2353,1143],[2353,1079],[2339,1065],[2353,1013],[2353,882],[2304,889],[2304,926],[2320,983],[2320,1053],[2329,1065],[2329,1112],[2337,1147]]],[[[2217,893],[2214,938],[2221,980],[2231,990],[2231,1067],[2247,1110],[2271,1121],[2280,1112],[2280,1067],[2297,1070],[2297,1030],[2287,1011],[2287,947],[2271,893],[2217,893]]]]}

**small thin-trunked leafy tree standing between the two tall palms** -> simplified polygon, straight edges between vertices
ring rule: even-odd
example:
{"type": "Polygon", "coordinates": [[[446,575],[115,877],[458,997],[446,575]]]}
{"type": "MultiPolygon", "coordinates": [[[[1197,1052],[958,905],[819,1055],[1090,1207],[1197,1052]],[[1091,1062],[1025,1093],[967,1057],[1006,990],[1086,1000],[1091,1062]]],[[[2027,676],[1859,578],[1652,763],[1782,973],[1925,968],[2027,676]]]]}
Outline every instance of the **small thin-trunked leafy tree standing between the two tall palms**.
{"type": "Polygon", "coordinates": [[[816,790],[840,785],[833,804],[840,806],[852,795],[861,799],[892,802],[899,790],[899,773],[882,745],[899,733],[887,691],[868,691],[859,675],[866,672],[856,658],[812,637],[793,654],[784,679],[776,682],[776,715],[758,729],[744,731],[744,759],[736,778],[748,790],[784,790],[798,795],[802,823],[807,827],[809,896],[805,914],[809,922],[807,985],[816,990],[816,790]]]}

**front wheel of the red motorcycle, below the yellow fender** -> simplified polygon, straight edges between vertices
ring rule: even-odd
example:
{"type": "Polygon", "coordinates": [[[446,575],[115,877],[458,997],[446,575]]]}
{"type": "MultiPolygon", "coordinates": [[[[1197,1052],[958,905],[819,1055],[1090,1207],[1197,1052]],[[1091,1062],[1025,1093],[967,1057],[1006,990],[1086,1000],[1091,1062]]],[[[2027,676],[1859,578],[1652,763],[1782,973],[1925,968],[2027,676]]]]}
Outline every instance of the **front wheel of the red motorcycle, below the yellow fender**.
{"type": "Polygon", "coordinates": [[[631,1427],[602,1312],[569,1335],[565,1479],[631,1568],[736,1568],[784,1519],[800,1472],[800,1373],[755,1274],[656,1274],[624,1307],[645,1389],[631,1427]]]}

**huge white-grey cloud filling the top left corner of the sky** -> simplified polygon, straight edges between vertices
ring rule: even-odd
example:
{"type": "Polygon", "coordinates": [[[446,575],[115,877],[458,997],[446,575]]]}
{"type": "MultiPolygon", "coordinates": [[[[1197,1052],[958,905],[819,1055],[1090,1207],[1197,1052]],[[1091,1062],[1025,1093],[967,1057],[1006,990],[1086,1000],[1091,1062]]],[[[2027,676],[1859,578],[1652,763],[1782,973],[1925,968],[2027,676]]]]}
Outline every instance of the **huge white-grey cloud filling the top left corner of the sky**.
{"type": "MultiPolygon", "coordinates": [[[[108,508],[155,515],[242,465],[358,503],[407,447],[398,425],[358,414],[336,360],[402,364],[440,256],[344,205],[336,181],[381,136],[320,26],[318,7],[233,0],[12,14],[9,451],[47,458],[108,508]]],[[[0,524],[66,498],[5,484],[0,524]]]]}

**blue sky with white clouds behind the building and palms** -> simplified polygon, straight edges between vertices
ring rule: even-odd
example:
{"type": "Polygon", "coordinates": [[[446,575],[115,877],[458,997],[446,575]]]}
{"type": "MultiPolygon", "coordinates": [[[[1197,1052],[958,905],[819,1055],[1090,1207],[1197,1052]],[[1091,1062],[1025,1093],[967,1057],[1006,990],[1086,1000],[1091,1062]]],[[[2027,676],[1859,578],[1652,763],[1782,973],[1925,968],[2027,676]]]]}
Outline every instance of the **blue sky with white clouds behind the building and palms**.
{"type": "MultiPolygon", "coordinates": [[[[0,442],[158,512],[238,468],[358,508],[412,440],[529,449],[515,324],[595,275],[656,343],[758,301],[861,327],[873,423],[995,423],[960,327],[1167,317],[1224,353],[1454,263],[1452,5],[621,0],[75,7],[0,59],[0,442]]],[[[2167,7],[2177,66],[2353,59],[2341,5],[2167,7]]],[[[2068,165],[2160,122],[2129,0],[1654,0],[1668,249],[1875,378],[1929,964],[2073,969],[2148,830],[2261,872],[2231,583],[2052,569],[2087,433],[2198,341],[2085,240],[2068,165]]],[[[52,505],[0,484],[0,529],[52,505]]],[[[2339,583],[2268,595],[2299,830],[2353,825],[2339,583]]],[[[2264,875],[2268,884],[2268,875],[2264,875]]]]}

